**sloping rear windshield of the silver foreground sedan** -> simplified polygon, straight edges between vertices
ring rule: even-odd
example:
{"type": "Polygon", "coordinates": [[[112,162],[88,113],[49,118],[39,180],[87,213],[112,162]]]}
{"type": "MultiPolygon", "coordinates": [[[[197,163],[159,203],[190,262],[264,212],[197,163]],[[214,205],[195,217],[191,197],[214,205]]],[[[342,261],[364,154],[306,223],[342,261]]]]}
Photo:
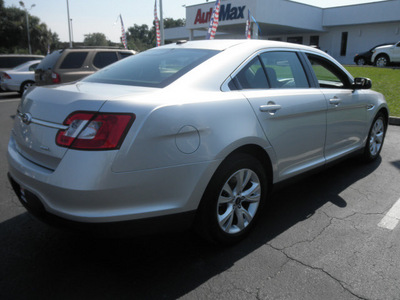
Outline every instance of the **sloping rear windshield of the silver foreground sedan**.
{"type": "Polygon", "coordinates": [[[154,49],[121,60],[83,81],[162,88],[218,52],[154,49]]]}

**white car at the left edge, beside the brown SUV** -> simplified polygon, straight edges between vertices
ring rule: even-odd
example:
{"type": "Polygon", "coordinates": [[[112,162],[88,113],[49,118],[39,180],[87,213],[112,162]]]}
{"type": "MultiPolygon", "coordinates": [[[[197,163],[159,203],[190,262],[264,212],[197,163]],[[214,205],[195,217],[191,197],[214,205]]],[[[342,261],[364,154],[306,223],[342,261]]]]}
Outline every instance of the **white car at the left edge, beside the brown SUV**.
{"type": "Polygon", "coordinates": [[[23,94],[25,90],[35,84],[35,68],[39,63],[40,60],[30,60],[11,70],[1,71],[1,89],[23,94]]]}

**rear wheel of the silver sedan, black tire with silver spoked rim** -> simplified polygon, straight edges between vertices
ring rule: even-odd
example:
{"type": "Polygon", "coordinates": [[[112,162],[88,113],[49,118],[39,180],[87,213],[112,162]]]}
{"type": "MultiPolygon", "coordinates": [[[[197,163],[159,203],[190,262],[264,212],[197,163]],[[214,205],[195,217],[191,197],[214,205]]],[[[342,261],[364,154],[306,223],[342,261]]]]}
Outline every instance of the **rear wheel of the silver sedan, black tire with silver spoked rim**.
{"type": "Polygon", "coordinates": [[[217,169],[204,192],[196,231],[217,244],[239,242],[253,228],[267,189],[267,176],[259,160],[248,154],[231,155],[217,169]]]}

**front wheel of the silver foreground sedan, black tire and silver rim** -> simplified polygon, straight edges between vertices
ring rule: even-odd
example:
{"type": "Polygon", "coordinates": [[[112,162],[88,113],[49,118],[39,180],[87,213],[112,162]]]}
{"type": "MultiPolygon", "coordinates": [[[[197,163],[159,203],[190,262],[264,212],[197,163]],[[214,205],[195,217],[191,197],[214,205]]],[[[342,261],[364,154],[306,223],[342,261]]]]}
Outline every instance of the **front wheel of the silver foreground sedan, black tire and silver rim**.
{"type": "Polygon", "coordinates": [[[365,162],[371,162],[378,158],[383,147],[383,142],[385,141],[386,129],[387,119],[382,112],[379,112],[368,132],[367,143],[363,153],[365,162]]]}

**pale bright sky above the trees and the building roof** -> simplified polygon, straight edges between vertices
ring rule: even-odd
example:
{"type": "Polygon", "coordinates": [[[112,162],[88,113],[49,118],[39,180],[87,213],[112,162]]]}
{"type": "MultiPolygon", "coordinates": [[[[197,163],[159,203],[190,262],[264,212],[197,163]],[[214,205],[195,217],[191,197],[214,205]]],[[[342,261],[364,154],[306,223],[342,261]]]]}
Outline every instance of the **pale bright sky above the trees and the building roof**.
{"type": "MultiPolygon", "coordinates": [[[[69,41],[67,1],[69,16],[72,19],[74,42],[83,42],[84,35],[102,32],[107,39],[119,42],[121,27],[118,16],[121,14],[125,29],[134,24],[153,25],[154,0],[23,0],[31,15],[40,18],[52,32],[56,32],[62,42],[69,41]]],[[[296,0],[296,2],[318,7],[333,7],[377,0],[296,0]]],[[[185,5],[205,3],[205,0],[163,0],[164,18],[185,18],[185,5]]],[[[212,0],[210,1],[212,2],[212,0]]],[[[243,1],[246,2],[245,0],[243,1]]],[[[157,3],[158,0],[157,0],[157,3]]],[[[5,0],[6,7],[20,7],[19,0],[5,0]]],[[[158,5],[158,4],[157,4],[158,5]]],[[[160,15],[158,15],[160,18],[160,15]]]]}

